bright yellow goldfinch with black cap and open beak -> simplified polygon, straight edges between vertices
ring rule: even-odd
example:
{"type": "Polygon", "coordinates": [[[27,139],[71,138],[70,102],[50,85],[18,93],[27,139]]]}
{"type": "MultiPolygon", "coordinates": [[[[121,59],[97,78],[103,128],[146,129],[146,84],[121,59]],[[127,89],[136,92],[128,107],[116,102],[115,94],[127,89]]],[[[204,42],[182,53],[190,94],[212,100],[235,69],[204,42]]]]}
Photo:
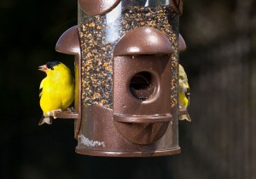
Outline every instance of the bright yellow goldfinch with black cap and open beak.
{"type": "Polygon", "coordinates": [[[40,107],[43,117],[38,125],[51,124],[56,111],[66,110],[74,98],[74,80],[67,66],[59,61],[50,61],[39,66],[40,71],[46,73],[40,84],[40,107]]]}

